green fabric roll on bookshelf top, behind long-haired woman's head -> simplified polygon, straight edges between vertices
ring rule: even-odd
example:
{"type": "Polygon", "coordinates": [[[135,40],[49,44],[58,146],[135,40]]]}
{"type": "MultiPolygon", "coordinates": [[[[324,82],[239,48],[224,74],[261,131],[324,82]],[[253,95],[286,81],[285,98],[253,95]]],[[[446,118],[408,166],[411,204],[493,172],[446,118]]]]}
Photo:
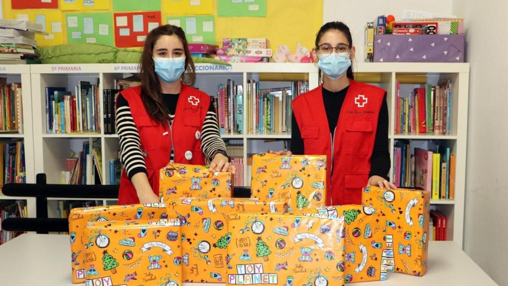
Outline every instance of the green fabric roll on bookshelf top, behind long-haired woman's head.
{"type": "MultiPolygon", "coordinates": [[[[73,44],[40,47],[43,64],[137,64],[141,51],[134,49],[119,49],[99,44],[73,44]]],[[[215,59],[198,58],[193,56],[196,64],[228,65],[215,59]]]]}

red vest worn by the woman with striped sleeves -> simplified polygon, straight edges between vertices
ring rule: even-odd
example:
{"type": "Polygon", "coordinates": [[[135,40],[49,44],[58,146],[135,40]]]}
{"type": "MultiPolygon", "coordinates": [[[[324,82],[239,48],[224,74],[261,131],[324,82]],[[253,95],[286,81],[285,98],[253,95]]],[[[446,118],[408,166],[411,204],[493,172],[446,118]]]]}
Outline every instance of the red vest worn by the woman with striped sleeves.
{"type": "MultiPolygon", "coordinates": [[[[141,87],[126,89],[121,94],[129,102],[141,140],[148,181],[156,195],[159,194],[159,170],[169,162],[172,144],[175,163],[205,164],[201,151],[201,128],[210,106],[210,97],[206,93],[182,83],[171,128],[169,124],[162,125],[148,116],[141,99],[141,87]]],[[[139,204],[136,189],[125,169],[120,179],[118,204],[139,204]]]]}

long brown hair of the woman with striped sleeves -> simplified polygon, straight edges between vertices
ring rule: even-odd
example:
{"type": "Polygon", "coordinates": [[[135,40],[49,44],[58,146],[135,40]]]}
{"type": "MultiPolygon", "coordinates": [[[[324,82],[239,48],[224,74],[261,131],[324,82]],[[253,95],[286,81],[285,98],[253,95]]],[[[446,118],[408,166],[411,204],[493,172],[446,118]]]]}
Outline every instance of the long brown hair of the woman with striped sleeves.
{"type": "Polygon", "coordinates": [[[182,41],[185,52],[185,72],[181,77],[182,82],[187,85],[194,85],[196,81],[196,68],[190,56],[187,39],[182,28],[173,25],[163,25],[154,28],[148,33],[140,63],[141,99],[150,118],[161,124],[166,124],[169,116],[168,109],[162,98],[161,83],[153,67],[152,50],[155,42],[164,35],[176,35],[182,41]]]}

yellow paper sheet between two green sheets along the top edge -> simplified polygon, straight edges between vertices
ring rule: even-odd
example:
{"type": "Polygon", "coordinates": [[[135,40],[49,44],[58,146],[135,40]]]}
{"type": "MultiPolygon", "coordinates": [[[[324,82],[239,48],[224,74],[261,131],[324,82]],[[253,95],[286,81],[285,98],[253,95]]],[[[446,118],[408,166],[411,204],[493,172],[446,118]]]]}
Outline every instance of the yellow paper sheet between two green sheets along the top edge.
{"type": "Polygon", "coordinates": [[[212,0],[163,1],[163,13],[166,15],[209,15],[213,14],[212,0]]]}

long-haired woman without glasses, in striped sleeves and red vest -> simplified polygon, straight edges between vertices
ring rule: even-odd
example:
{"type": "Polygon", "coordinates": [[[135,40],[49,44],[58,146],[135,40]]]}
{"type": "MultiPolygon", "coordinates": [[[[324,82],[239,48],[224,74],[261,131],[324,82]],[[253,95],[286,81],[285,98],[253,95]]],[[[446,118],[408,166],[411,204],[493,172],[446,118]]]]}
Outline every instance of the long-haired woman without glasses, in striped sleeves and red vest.
{"type": "Polygon", "coordinates": [[[206,158],[210,170],[230,167],[210,97],[192,87],[196,72],[180,27],[148,33],[140,76],[141,86],[123,90],[116,102],[120,205],[158,202],[159,170],[170,161],[203,165],[206,158]]]}

